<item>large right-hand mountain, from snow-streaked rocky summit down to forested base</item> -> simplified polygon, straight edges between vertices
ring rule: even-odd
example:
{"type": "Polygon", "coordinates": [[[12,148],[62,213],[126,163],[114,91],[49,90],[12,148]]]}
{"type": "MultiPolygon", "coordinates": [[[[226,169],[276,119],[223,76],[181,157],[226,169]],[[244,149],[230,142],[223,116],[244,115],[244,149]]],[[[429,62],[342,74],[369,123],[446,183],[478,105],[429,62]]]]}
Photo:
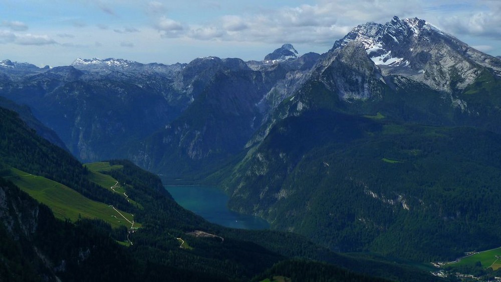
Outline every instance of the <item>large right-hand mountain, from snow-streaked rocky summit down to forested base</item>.
{"type": "Polygon", "coordinates": [[[341,251],[497,246],[499,63],[419,19],[356,27],[248,143],[230,207],[341,251]]]}

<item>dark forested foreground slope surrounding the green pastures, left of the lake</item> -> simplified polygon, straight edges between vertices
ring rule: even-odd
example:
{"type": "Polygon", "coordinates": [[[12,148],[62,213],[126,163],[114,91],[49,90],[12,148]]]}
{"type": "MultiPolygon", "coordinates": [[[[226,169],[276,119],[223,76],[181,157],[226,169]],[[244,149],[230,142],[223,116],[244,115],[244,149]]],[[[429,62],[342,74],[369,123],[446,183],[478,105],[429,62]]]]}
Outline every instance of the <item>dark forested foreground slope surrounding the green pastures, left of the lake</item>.
{"type": "MultiPolygon", "coordinates": [[[[327,260],[367,275],[414,277],[415,280],[430,278],[425,272],[401,265],[341,256],[294,234],[233,230],[210,224],[177,205],[157,176],[129,161],[110,161],[102,171],[123,185],[122,189],[131,199],[124,206],[143,223],[140,229],[128,235],[133,244],[123,247],[115,239],[127,234],[126,230],[122,232],[125,228],[112,229],[100,220],[56,220],[49,208],[6,181],[9,178],[4,177],[5,173],[12,166],[20,165],[16,160],[24,154],[32,156],[30,164],[26,164],[28,172],[49,174],[56,163],[63,175],[69,171],[81,171],[81,174],[71,177],[86,185],[90,184],[87,181],[93,174],[83,169],[67,152],[36,136],[14,112],[0,108],[0,117],[1,140],[7,141],[0,144],[2,279],[248,280],[292,256],[327,260]],[[9,142],[22,146],[12,148],[6,145],[9,142]],[[42,165],[44,167],[40,168],[42,165]],[[186,234],[200,229],[218,234],[224,237],[224,241],[186,234]],[[192,249],[180,248],[176,238],[182,238],[192,249]],[[364,267],[360,268],[360,265],[364,267]]],[[[58,179],[57,175],[49,174],[49,177],[58,179]]],[[[73,185],[71,187],[78,187],[73,185]]],[[[98,188],[104,194],[114,195],[104,187],[98,188]]],[[[123,195],[120,198],[123,199],[123,195]]],[[[113,197],[102,200],[109,204],[110,199],[113,197]]],[[[309,267],[308,264],[305,267],[309,267]]]]}

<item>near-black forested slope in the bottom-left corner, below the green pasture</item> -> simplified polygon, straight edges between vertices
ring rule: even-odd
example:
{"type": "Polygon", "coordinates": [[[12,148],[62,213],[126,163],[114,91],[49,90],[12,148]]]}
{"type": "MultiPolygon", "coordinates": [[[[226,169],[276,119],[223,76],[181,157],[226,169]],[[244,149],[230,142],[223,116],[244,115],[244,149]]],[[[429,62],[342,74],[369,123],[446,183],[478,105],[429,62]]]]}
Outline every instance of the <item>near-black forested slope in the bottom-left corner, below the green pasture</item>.
{"type": "Polygon", "coordinates": [[[0,216],[2,281],[227,280],[227,275],[183,270],[136,255],[140,252],[117,244],[103,222],[58,220],[47,206],[2,178],[0,199],[9,207],[0,216]],[[6,226],[8,222],[14,225],[6,226]]]}

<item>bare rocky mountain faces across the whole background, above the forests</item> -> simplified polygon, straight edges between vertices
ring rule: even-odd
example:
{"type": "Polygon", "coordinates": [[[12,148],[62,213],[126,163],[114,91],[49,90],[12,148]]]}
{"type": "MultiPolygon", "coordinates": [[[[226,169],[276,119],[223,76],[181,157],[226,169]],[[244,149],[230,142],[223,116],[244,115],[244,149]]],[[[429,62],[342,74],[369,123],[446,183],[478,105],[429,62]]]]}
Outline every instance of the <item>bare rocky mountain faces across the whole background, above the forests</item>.
{"type": "Polygon", "coordinates": [[[3,96],[30,106],[79,159],[128,157],[159,171],[162,159],[174,156],[226,158],[262,141],[277,120],[333,105],[309,94],[319,85],[335,95],[329,99],[339,98],[336,107],[382,103],[387,93],[419,88],[473,114],[479,108],[457,92],[486,72],[497,76],[500,66],[423,20],[395,17],[354,28],[323,55],[298,57],[285,44],[249,62],[206,57],[167,66],[77,59],[51,69],[3,61],[0,87],[3,96]]]}

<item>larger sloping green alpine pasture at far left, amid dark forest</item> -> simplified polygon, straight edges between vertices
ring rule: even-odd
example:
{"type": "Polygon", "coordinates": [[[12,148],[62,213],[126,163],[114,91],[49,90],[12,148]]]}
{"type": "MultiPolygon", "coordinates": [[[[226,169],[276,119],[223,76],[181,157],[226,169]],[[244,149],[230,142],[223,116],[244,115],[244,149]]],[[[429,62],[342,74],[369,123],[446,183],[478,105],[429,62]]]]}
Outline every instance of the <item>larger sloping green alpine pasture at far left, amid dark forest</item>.
{"type": "MultiPolygon", "coordinates": [[[[110,223],[113,228],[130,227],[127,220],[105,203],[90,200],[75,190],[45,177],[29,174],[16,168],[12,168],[11,172],[14,177],[10,177],[9,180],[37,201],[49,206],[56,218],[71,221],[76,221],[80,217],[99,218],[110,223]]],[[[120,213],[131,221],[134,218],[130,213],[121,210],[120,213]]]]}

